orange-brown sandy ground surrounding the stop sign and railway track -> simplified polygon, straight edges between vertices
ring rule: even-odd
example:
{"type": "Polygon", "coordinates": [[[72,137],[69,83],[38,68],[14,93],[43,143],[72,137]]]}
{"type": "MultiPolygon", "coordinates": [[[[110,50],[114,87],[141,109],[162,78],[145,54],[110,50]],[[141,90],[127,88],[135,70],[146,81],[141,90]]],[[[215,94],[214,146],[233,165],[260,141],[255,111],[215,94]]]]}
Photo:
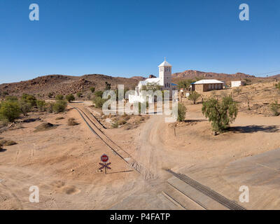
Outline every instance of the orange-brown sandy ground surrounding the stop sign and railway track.
{"type": "Polygon", "coordinates": [[[167,168],[233,197],[227,190],[237,186],[221,172],[236,160],[280,148],[280,118],[241,112],[232,131],[214,137],[201,106],[188,105],[186,122],[176,127],[163,116],[151,116],[134,130],[106,130],[145,167],[145,174],[114,155],[75,110],[42,116],[58,125],[52,130],[34,132],[41,124],[36,121],[3,132],[0,137],[18,144],[0,152],[0,209],[178,209],[162,195],[171,177],[167,168]],[[55,120],[59,116],[65,119],[55,120]],[[68,126],[67,118],[80,125],[68,126]],[[112,163],[106,175],[98,172],[103,153],[112,163]],[[29,202],[30,186],[39,187],[39,203],[29,202]]]}

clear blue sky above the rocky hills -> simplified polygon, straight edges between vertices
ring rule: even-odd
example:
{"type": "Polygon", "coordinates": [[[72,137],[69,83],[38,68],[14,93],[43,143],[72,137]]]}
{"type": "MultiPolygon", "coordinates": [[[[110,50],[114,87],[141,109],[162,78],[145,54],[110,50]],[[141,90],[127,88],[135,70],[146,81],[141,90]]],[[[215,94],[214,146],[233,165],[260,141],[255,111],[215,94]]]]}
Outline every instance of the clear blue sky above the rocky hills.
{"type": "MultiPolygon", "coordinates": [[[[280,70],[279,0],[1,0],[0,83],[47,74],[280,70]],[[29,20],[38,3],[40,20],[29,20]],[[239,5],[250,20],[239,20],[239,5]]],[[[276,71],[269,75],[280,73],[276,71]]]]}

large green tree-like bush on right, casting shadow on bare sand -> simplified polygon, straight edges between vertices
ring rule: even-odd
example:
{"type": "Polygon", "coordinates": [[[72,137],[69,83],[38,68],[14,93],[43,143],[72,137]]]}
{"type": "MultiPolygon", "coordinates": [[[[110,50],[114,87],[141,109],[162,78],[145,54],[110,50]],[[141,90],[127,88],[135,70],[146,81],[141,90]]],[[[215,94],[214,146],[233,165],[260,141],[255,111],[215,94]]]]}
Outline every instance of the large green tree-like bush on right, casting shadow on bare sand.
{"type": "Polygon", "coordinates": [[[214,132],[223,132],[237,117],[237,103],[230,96],[223,97],[221,102],[211,98],[203,103],[202,113],[209,118],[214,132]]]}

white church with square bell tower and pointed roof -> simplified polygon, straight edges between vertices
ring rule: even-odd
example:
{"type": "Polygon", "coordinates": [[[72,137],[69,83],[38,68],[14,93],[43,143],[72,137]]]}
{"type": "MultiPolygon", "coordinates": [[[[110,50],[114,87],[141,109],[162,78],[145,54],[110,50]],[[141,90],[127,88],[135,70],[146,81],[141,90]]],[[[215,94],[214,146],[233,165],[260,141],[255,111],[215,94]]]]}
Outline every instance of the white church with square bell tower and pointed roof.
{"type": "MultiPolygon", "coordinates": [[[[169,97],[172,97],[172,91],[177,90],[178,85],[172,83],[172,65],[169,64],[166,59],[162,64],[158,66],[159,78],[147,78],[144,81],[139,81],[137,87],[135,87],[135,94],[129,95],[130,103],[146,101],[146,96],[141,93],[144,86],[157,85],[160,90],[169,90],[169,97]]],[[[153,98],[148,98],[149,103],[153,102],[153,98]]]]}

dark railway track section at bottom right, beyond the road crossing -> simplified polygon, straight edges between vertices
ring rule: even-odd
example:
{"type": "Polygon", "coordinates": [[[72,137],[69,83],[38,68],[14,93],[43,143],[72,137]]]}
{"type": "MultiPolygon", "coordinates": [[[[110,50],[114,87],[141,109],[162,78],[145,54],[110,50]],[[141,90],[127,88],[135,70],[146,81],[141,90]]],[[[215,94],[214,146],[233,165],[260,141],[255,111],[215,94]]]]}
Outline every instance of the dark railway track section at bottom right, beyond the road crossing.
{"type": "Polygon", "coordinates": [[[209,188],[207,186],[202,185],[201,183],[195,181],[194,179],[191,179],[189,176],[186,176],[184,174],[177,174],[170,169],[167,169],[167,172],[169,172],[170,174],[173,174],[181,181],[187,183],[188,185],[192,186],[196,190],[200,191],[204,195],[207,195],[211,199],[222,204],[224,207],[227,207],[230,210],[246,210],[244,207],[241,207],[236,202],[233,202],[233,201],[229,200],[228,198],[224,197],[223,195],[216,193],[216,191],[212,190],[211,188],[209,188]]]}

